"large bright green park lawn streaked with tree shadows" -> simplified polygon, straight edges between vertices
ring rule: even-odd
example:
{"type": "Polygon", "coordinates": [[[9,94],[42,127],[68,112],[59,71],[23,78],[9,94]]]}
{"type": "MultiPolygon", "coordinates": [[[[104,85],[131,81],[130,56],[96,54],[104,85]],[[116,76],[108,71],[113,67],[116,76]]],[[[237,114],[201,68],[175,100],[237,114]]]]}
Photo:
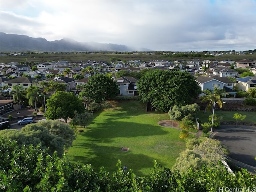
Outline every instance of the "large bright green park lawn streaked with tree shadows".
{"type": "Polygon", "coordinates": [[[145,104],[134,100],[112,105],[94,114],[90,126],[81,128],[84,132],[78,133],[66,152],[70,161],[92,164],[96,171],[103,166],[111,174],[120,159],[138,176],[150,173],[153,160],[172,168],[186,147],[179,130],[158,125],[160,120],[169,120],[169,115],[146,112],[145,104]],[[128,152],[122,152],[122,147],[129,148],[128,152]]]}

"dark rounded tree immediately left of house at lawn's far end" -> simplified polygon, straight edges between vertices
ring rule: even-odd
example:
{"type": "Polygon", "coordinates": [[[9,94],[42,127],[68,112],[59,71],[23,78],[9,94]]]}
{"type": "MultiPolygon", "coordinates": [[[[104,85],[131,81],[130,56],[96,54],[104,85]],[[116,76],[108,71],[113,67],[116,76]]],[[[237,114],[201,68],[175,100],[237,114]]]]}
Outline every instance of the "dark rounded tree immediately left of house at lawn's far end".
{"type": "Polygon", "coordinates": [[[88,83],[79,95],[81,98],[86,97],[100,103],[118,95],[118,84],[105,74],[96,74],[89,77],[88,83]]]}

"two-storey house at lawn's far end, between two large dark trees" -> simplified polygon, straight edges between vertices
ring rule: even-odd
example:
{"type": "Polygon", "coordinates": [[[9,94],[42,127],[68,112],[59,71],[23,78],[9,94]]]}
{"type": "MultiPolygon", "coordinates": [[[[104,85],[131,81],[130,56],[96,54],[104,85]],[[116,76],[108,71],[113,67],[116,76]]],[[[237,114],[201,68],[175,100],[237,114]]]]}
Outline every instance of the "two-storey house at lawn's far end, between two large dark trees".
{"type": "Polygon", "coordinates": [[[136,82],[137,78],[134,77],[120,77],[115,80],[118,83],[120,96],[136,96],[138,93],[136,82]]]}

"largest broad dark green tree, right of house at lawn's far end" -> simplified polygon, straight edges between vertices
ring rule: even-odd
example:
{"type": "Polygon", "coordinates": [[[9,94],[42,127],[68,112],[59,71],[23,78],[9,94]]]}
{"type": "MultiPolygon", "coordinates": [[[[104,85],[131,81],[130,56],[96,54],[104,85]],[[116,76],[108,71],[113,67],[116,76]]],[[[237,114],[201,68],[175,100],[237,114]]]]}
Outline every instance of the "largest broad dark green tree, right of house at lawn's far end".
{"type": "Polygon", "coordinates": [[[160,112],[168,112],[174,105],[190,104],[200,88],[188,72],[148,70],[137,82],[142,102],[150,102],[160,112]]]}

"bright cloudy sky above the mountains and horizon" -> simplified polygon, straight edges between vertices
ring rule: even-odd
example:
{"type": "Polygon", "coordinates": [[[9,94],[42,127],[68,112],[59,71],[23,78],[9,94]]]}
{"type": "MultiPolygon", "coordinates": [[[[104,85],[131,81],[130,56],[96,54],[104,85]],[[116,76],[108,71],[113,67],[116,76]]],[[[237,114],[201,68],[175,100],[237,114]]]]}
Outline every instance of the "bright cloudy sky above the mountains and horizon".
{"type": "Polygon", "coordinates": [[[0,0],[0,31],[154,51],[256,49],[256,0],[0,0]]]}

